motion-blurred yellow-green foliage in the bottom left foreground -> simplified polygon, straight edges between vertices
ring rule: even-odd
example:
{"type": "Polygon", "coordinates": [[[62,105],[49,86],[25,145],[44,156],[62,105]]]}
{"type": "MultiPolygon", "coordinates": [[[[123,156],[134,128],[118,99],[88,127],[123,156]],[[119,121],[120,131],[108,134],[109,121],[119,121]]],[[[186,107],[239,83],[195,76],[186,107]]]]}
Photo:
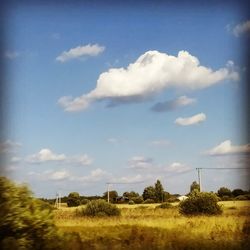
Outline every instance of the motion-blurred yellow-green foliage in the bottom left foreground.
{"type": "Polygon", "coordinates": [[[26,186],[0,177],[0,249],[52,249],[58,233],[51,206],[26,186]]]}

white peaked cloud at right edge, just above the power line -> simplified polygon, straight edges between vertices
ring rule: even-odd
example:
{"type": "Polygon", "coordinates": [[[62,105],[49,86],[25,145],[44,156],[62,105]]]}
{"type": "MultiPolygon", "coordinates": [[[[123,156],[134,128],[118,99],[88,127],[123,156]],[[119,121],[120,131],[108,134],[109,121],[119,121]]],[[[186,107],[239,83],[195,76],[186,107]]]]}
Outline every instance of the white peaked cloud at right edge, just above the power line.
{"type": "Polygon", "coordinates": [[[250,144],[232,145],[232,142],[230,140],[226,140],[206,152],[206,154],[211,156],[242,153],[250,153],[250,144]]]}

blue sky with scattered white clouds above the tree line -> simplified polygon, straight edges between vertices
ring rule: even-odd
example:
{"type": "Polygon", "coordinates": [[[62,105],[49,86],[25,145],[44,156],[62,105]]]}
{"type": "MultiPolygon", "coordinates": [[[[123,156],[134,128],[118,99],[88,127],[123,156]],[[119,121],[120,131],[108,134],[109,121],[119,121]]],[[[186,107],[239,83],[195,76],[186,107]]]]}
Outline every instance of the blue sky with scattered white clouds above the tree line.
{"type": "MultiPolygon", "coordinates": [[[[243,167],[237,4],[18,5],[5,18],[1,148],[35,195],[102,194],[107,181],[142,192],[157,178],[185,194],[196,167],[243,167]]],[[[204,170],[204,189],[249,188],[244,170],[223,171],[204,170]]]]}

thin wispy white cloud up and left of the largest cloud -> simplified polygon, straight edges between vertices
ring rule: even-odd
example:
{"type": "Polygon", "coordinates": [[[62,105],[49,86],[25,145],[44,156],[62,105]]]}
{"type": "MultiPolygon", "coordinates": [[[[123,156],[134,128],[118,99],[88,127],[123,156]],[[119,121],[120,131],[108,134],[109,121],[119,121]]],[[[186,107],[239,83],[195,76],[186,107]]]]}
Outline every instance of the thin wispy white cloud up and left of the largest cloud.
{"type": "Polygon", "coordinates": [[[104,46],[99,46],[98,44],[88,44],[72,48],[68,51],[62,52],[56,61],[64,63],[66,61],[83,58],[86,56],[97,56],[105,50],[104,46]]]}

